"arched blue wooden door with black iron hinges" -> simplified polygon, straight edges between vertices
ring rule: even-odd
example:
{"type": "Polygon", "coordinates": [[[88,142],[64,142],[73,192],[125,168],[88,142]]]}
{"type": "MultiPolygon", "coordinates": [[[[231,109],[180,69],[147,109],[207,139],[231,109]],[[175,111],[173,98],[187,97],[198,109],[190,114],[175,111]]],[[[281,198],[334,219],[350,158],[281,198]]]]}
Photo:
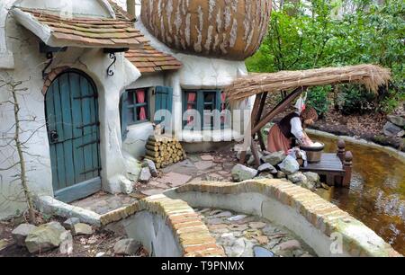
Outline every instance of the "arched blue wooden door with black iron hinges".
{"type": "Polygon", "coordinates": [[[85,74],[58,75],[46,93],[52,185],[71,202],[101,189],[97,91],[85,74]]]}

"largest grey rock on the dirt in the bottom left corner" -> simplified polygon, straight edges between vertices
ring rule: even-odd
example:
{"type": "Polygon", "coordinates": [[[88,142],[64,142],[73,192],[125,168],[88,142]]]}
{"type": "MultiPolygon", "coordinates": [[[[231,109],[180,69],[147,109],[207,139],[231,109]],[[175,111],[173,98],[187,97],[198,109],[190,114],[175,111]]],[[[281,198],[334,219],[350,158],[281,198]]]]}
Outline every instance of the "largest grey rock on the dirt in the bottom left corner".
{"type": "Polygon", "coordinates": [[[60,235],[66,232],[58,222],[38,226],[25,239],[25,246],[30,253],[43,253],[56,248],[61,243],[60,235]]]}

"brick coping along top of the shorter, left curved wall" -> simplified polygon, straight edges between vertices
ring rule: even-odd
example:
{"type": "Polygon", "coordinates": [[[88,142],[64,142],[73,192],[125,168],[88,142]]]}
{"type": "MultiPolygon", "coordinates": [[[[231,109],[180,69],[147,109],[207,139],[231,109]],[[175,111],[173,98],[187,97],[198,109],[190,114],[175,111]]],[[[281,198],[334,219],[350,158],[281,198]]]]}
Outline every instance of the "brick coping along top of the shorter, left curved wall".
{"type": "MultiPolygon", "coordinates": [[[[121,222],[138,213],[147,212],[163,218],[169,226],[177,248],[184,257],[223,257],[223,248],[216,244],[208,227],[183,200],[172,200],[165,195],[151,196],[128,207],[120,208],[100,217],[102,226],[121,222]]],[[[148,244],[150,244],[150,240],[148,244]]],[[[173,255],[165,255],[173,256],[173,255]]]]}

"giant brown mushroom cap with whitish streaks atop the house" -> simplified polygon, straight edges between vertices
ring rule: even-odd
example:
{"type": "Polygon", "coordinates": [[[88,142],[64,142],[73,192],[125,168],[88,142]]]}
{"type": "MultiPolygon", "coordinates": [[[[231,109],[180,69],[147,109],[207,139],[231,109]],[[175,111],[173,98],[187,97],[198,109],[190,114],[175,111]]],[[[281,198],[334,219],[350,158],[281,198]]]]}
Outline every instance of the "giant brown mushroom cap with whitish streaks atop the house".
{"type": "Polygon", "coordinates": [[[271,0],[142,0],[141,20],[172,49],[244,60],[265,38],[271,7],[271,0]]]}

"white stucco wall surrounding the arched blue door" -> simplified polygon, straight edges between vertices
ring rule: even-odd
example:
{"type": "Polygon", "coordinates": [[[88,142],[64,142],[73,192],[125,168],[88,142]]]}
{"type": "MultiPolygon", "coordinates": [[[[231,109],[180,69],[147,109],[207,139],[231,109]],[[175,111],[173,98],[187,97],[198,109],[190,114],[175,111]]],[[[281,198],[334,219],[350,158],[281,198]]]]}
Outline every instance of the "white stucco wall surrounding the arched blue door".
{"type": "MultiPolygon", "coordinates": [[[[44,81],[41,70],[45,67],[46,58],[39,52],[39,40],[30,31],[14,22],[10,16],[6,22],[5,32],[9,39],[7,48],[14,54],[14,70],[0,68],[0,75],[13,77],[14,80],[23,80],[23,87],[28,91],[19,97],[21,102],[21,117],[35,118],[35,121],[24,122],[22,138],[31,135],[32,130],[36,133],[27,143],[25,155],[27,165],[27,178],[31,191],[40,195],[53,196],[49,141],[45,127],[44,96],[41,93],[44,81]]],[[[120,92],[129,84],[135,82],[140,73],[122,54],[117,55],[117,62],[112,67],[114,75],[106,75],[107,67],[112,63],[108,55],[103,54],[103,49],[75,49],[69,48],[65,53],[55,55],[54,62],[49,70],[55,67],[72,67],[82,70],[89,75],[96,84],[99,93],[99,119],[100,125],[100,153],[102,159],[102,183],[103,190],[121,192],[122,179],[127,177],[124,158],[121,154],[121,128],[119,101],[120,92]]],[[[4,87],[0,90],[0,101],[6,101],[10,93],[4,87]]],[[[0,105],[0,137],[5,136],[7,129],[13,129],[14,112],[10,104],[0,105]]],[[[6,143],[0,140],[0,146],[6,143]]],[[[0,154],[0,168],[8,167],[15,161],[13,146],[2,148],[0,154]],[[14,154],[14,160],[9,159],[14,154]]],[[[0,172],[0,218],[9,217],[16,210],[23,210],[25,202],[22,200],[19,182],[14,181],[13,175],[17,169],[0,172]],[[17,197],[17,198],[15,198],[17,197]]]]}

